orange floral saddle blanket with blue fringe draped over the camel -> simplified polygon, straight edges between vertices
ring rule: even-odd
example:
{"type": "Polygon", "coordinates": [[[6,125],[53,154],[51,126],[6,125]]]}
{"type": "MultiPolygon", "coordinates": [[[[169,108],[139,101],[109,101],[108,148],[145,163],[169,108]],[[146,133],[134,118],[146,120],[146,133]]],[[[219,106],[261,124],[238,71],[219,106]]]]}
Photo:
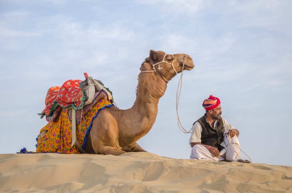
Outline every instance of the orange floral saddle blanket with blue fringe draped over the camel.
{"type": "MultiPolygon", "coordinates": [[[[82,148],[85,148],[87,135],[92,127],[93,120],[97,117],[98,112],[105,107],[111,107],[113,104],[107,99],[100,99],[76,127],[76,140],[82,148]]],[[[59,117],[55,122],[49,122],[40,130],[47,133],[37,137],[36,152],[29,152],[26,148],[20,150],[21,153],[62,153],[62,154],[80,154],[78,148],[72,143],[72,123],[68,114],[68,109],[62,109],[59,117]]]]}

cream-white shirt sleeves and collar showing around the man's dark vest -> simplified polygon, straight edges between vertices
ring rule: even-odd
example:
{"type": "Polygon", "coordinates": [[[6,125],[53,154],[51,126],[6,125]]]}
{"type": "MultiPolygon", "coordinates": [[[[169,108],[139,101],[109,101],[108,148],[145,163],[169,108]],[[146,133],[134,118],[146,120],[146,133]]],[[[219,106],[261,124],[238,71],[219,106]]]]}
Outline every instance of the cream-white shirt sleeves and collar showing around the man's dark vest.
{"type": "MultiPolygon", "coordinates": [[[[229,131],[229,129],[235,129],[225,119],[222,118],[222,121],[223,121],[223,126],[224,126],[223,128],[224,132],[229,131]]],[[[210,122],[207,119],[206,119],[206,122],[210,124],[210,122]]],[[[215,120],[214,122],[214,129],[216,129],[216,124],[217,124],[217,120],[215,120]]],[[[202,126],[199,122],[196,122],[192,127],[192,135],[190,137],[189,143],[201,143],[201,132],[202,132],[202,126]]]]}

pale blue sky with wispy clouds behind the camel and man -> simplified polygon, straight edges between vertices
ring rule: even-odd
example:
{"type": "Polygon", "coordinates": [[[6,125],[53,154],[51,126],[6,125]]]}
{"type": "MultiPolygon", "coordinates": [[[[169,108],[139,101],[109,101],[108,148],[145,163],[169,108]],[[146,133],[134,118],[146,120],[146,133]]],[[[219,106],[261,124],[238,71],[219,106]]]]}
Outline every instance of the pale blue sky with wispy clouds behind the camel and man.
{"type": "MultiPolygon", "coordinates": [[[[212,94],[253,163],[292,166],[291,13],[288,0],[0,0],[0,153],[35,151],[48,88],[84,72],[112,90],[120,109],[131,108],[142,62],[162,50],[194,61],[178,107],[186,130],[212,94]]],[[[138,143],[189,159],[190,134],[179,130],[175,109],[179,76],[138,143]]]]}

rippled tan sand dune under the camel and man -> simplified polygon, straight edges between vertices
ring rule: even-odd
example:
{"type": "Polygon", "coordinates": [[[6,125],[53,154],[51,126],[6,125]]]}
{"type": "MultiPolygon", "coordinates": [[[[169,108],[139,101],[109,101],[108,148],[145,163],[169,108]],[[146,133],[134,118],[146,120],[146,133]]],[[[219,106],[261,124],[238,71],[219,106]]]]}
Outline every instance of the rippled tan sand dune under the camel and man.
{"type": "Polygon", "coordinates": [[[113,155],[0,154],[0,192],[292,192],[292,167],[113,155]]]}

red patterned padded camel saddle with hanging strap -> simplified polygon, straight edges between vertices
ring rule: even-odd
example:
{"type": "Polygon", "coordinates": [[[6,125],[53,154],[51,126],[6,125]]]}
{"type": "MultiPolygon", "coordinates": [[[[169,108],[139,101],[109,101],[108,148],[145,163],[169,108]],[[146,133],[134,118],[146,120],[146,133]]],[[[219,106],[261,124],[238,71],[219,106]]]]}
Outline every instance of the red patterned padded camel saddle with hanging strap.
{"type": "MultiPolygon", "coordinates": [[[[72,121],[72,146],[80,148],[76,140],[76,126],[82,117],[100,100],[107,99],[113,103],[112,92],[102,82],[84,73],[86,80],[67,80],[61,87],[49,88],[45,99],[46,108],[39,113],[46,116],[48,122],[55,122],[63,108],[69,109],[68,116],[72,121]]],[[[82,152],[82,151],[81,151],[82,152]]]]}

